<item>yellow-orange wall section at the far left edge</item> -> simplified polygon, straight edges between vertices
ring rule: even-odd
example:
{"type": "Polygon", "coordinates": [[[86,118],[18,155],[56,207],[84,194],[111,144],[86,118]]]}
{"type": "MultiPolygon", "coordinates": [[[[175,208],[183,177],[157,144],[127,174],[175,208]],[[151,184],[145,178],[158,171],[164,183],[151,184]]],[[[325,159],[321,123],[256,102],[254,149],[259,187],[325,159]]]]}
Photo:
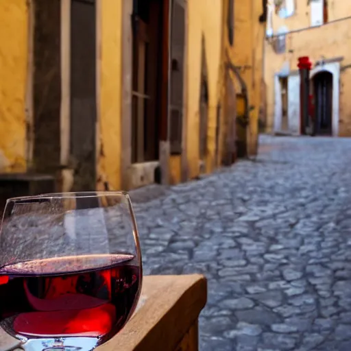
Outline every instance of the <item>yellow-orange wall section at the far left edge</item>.
{"type": "Polygon", "coordinates": [[[0,1],[0,171],[25,171],[28,12],[26,0],[0,1]]]}

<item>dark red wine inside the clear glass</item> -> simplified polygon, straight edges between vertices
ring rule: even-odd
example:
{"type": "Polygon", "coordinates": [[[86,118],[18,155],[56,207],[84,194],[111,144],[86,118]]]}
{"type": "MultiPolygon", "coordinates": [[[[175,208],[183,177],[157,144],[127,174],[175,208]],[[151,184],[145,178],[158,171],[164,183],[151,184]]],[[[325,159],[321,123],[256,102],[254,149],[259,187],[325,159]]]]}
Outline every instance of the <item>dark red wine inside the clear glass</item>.
{"type": "Polygon", "coordinates": [[[0,322],[25,337],[110,337],[134,311],[132,255],[50,258],[0,269],[0,322]]]}

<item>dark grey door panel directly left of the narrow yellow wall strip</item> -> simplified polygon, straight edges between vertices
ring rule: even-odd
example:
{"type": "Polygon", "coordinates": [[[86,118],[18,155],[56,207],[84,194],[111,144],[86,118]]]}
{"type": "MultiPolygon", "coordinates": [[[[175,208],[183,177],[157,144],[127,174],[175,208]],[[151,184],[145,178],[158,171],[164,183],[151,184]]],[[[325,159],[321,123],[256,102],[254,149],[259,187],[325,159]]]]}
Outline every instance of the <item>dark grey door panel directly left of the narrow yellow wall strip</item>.
{"type": "Polygon", "coordinates": [[[95,189],[96,182],[96,4],[71,3],[71,156],[73,191],[95,189]]]}

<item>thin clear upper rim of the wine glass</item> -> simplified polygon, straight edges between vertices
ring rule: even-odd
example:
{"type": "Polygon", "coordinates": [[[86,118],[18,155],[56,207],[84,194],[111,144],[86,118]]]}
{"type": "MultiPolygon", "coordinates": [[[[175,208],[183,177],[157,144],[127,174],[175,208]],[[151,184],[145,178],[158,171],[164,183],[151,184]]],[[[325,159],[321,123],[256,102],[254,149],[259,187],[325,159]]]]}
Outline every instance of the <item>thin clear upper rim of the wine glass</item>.
{"type": "Polygon", "coordinates": [[[72,198],[88,198],[88,197],[125,197],[130,199],[128,191],[67,191],[67,192],[58,192],[58,193],[43,193],[39,195],[28,195],[28,196],[17,196],[10,197],[6,200],[8,202],[17,202],[25,201],[30,199],[72,199],[72,198]]]}

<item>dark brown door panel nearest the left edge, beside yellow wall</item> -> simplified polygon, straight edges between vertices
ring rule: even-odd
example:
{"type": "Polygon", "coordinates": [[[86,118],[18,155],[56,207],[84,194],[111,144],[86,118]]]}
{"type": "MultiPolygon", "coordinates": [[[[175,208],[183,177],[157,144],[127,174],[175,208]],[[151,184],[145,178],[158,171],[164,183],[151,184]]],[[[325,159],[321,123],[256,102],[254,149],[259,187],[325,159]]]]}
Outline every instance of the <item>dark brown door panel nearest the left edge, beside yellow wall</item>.
{"type": "Polygon", "coordinates": [[[60,169],[61,147],[60,0],[36,0],[33,34],[34,163],[29,169],[55,174],[60,169]]]}

